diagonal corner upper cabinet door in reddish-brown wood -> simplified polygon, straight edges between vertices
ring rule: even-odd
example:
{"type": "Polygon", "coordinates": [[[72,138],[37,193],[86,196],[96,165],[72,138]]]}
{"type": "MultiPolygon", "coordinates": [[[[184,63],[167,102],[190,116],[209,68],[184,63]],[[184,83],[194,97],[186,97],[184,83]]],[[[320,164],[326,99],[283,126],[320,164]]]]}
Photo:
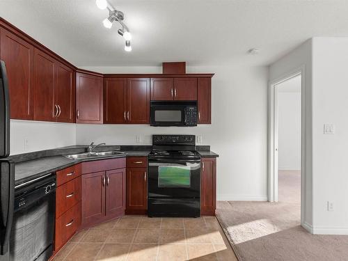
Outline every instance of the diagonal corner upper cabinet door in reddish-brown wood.
{"type": "Polygon", "coordinates": [[[77,72],[77,123],[103,123],[103,78],[77,72]]]}

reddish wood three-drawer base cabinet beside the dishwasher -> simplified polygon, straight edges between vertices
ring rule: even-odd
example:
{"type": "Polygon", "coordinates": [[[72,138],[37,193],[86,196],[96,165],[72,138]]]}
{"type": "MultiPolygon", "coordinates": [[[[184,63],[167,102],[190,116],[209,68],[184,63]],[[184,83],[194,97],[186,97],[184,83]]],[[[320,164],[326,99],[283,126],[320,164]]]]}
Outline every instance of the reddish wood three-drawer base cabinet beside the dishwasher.
{"type": "Polygon", "coordinates": [[[81,226],[81,164],[57,171],[56,184],[55,253],[81,226]]]}

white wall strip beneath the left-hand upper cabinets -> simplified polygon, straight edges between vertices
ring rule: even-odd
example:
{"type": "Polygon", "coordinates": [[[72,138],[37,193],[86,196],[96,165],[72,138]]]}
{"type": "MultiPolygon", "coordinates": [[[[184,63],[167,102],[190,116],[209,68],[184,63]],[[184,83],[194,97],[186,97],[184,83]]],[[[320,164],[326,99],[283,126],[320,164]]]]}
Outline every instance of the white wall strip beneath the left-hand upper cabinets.
{"type": "Polygon", "coordinates": [[[75,125],[69,123],[11,120],[10,154],[74,145],[75,130],[75,125]]]}

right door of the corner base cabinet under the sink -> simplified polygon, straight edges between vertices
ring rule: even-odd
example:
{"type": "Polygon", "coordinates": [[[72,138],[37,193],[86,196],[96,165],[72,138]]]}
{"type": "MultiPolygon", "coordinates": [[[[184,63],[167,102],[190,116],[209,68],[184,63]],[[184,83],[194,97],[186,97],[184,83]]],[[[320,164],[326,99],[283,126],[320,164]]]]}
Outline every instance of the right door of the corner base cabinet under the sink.
{"type": "Polygon", "coordinates": [[[106,216],[121,216],[126,208],[126,169],[106,171],[106,216]]]}

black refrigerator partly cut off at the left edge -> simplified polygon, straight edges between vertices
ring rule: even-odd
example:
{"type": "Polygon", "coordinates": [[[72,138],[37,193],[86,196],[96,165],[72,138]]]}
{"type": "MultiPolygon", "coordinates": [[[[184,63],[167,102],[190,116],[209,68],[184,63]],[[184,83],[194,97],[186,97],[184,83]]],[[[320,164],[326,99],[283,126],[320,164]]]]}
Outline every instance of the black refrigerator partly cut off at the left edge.
{"type": "Polygon", "coordinates": [[[0,261],[9,260],[9,241],[15,204],[15,165],[10,155],[10,96],[6,66],[0,61],[0,261]]]}

